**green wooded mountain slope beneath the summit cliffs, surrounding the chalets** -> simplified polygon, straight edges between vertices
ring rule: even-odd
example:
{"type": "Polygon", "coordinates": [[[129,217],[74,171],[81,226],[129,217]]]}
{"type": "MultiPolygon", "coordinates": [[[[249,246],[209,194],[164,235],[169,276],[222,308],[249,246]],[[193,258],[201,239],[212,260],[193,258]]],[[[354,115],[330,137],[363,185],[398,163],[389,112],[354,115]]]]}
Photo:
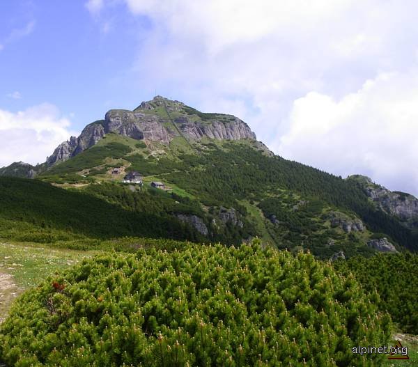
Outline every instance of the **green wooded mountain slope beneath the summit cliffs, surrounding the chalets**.
{"type": "Polygon", "coordinates": [[[40,178],[91,182],[83,190],[138,212],[147,208],[181,212],[176,205],[143,205],[150,180],[161,180],[178,197],[191,198],[193,210],[186,213],[202,219],[212,242],[239,244],[258,235],[279,248],[302,247],[323,258],[338,251],[346,256],[373,253],[366,243],[383,236],[401,247],[417,249],[417,236],[396,217],[375,208],[356,182],[271,157],[254,140],[186,143],[177,139],[163,144],[108,134],[40,178]],[[123,189],[118,183],[123,174],[109,173],[115,166],[139,171],[145,176],[145,190],[123,189]],[[111,185],[103,186],[103,182],[111,185]],[[231,220],[222,216],[225,208],[234,213],[231,220]]]}

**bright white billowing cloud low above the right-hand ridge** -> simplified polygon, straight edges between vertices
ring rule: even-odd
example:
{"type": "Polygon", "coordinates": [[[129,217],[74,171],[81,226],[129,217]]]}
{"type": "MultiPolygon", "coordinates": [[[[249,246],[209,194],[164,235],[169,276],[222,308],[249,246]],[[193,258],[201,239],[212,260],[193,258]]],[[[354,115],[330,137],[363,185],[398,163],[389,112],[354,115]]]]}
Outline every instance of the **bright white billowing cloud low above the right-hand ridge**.
{"type": "Polygon", "coordinates": [[[381,74],[339,100],[308,93],[293,102],[289,119],[290,130],[274,147],[279,154],[418,194],[417,70],[381,74]]]}

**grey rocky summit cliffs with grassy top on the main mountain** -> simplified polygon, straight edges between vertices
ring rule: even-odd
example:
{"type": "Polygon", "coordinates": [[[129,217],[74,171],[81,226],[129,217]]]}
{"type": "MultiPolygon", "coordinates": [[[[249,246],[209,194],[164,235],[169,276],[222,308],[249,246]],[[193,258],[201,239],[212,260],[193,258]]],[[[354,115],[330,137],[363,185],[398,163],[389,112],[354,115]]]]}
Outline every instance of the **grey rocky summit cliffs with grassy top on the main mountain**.
{"type": "Polygon", "coordinates": [[[249,126],[235,116],[203,114],[182,102],[157,96],[152,101],[142,102],[134,111],[111,109],[104,120],[87,125],[80,136],[71,136],[70,140],[61,143],[47,157],[47,165],[52,166],[74,157],[95,145],[109,132],[162,143],[170,143],[175,136],[183,136],[188,141],[199,141],[203,137],[218,140],[256,139],[249,126]]]}

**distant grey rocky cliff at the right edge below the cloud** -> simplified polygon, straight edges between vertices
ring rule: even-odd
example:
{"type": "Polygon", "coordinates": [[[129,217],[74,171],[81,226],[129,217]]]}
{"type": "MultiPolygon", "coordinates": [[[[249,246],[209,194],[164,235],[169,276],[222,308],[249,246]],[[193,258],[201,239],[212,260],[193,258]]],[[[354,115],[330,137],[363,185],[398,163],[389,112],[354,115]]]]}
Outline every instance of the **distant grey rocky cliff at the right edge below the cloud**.
{"type": "Polygon", "coordinates": [[[418,228],[418,199],[415,196],[404,192],[391,192],[366,176],[353,175],[349,179],[358,182],[381,210],[401,219],[407,228],[418,228]]]}

